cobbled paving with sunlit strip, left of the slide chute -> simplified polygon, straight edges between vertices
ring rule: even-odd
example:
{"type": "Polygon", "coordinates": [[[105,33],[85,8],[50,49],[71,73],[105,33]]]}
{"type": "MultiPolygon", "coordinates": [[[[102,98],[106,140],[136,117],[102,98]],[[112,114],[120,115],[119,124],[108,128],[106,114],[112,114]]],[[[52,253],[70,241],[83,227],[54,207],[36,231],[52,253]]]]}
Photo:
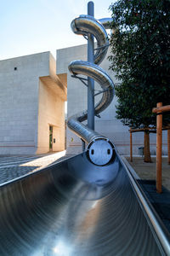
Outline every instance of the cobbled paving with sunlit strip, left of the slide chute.
{"type": "Polygon", "coordinates": [[[39,155],[0,155],[0,183],[8,182],[16,177],[35,172],[61,159],[68,158],[65,151],[54,154],[39,155]]]}

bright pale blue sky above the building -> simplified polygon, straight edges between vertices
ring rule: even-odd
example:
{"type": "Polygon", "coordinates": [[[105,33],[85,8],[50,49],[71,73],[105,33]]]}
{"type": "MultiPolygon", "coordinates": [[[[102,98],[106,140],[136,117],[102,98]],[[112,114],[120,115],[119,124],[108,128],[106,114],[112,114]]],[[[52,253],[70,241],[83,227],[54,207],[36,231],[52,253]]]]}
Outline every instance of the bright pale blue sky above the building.
{"type": "MultiPolygon", "coordinates": [[[[77,44],[86,44],[71,32],[71,20],[87,14],[89,0],[1,0],[0,60],[77,44]]],[[[111,17],[115,0],[94,0],[96,19],[111,17]]]]}

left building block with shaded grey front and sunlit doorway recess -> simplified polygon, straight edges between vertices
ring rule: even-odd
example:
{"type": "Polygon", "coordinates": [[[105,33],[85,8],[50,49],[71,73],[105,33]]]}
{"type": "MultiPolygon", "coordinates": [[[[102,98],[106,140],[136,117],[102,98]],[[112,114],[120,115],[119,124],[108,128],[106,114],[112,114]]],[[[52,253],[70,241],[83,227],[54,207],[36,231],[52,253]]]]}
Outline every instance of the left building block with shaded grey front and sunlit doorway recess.
{"type": "Polygon", "coordinates": [[[64,150],[65,101],[49,52],[0,61],[0,154],[64,150]]]}

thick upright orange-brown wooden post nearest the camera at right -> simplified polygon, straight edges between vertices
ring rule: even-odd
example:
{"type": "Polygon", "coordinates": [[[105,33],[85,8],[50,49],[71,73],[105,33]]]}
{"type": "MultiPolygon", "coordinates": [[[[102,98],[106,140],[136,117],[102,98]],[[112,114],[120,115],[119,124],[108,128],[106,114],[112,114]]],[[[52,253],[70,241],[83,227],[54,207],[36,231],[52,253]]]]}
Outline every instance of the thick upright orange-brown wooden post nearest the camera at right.
{"type": "MultiPolygon", "coordinates": [[[[160,108],[159,102],[156,108],[160,108]]],[[[162,143],[162,114],[158,112],[156,116],[156,191],[161,193],[161,143],[162,143]]]]}

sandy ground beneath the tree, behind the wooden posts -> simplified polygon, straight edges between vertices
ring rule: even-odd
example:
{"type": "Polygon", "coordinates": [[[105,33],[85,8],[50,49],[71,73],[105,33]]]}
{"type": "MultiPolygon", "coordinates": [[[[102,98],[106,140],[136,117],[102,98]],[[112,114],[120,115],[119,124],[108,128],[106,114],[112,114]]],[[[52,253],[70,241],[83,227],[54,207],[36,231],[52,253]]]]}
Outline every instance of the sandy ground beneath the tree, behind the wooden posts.
{"type": "MultiPolygon", "coordinates": [[[[128,157],[127,160],[141,179],[156,180],[156,157],[152,157],[152,163],[144,163],[142,157],[133,157],[133,162],[130,162],[128,157]]],[[[170,190],[170,165],[164,157],[162,158],[162,185],[170,190]]]]}

